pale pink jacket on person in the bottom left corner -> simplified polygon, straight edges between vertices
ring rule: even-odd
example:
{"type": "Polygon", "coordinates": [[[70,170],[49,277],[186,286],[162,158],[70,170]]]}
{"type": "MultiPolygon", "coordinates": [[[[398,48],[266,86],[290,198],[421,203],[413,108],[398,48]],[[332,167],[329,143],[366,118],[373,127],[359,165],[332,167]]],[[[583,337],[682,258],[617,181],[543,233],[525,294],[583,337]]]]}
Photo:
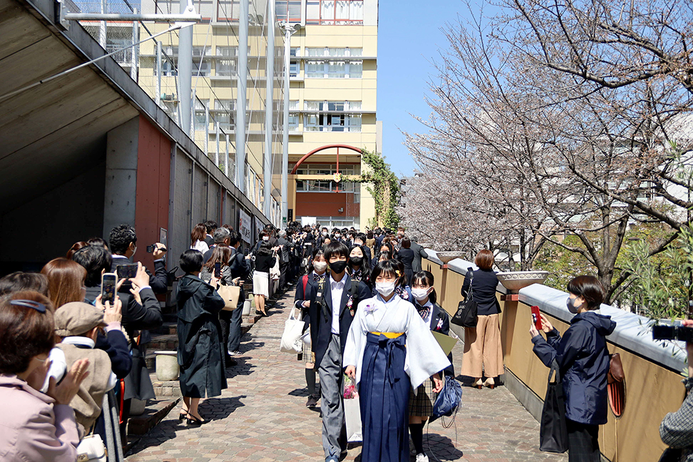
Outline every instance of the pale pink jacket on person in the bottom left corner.
{"type": "Polygon", "coordinates": [[[75,462],[79,435],[68,405],[31,388],[16,375],[0,375],[0,461],[75,462]]]}

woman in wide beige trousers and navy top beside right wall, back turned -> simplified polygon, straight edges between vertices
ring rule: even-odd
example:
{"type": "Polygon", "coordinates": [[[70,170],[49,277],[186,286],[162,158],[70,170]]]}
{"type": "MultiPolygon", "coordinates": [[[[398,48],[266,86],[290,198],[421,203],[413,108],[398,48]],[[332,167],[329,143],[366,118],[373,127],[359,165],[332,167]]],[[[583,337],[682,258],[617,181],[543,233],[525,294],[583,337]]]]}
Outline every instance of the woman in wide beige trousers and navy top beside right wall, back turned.
{"type": "MultiPolygon", "coordinates": [[[[495,377],[503,370],[503,353],[500,344],[500,303],[495,296],[498,278],[493,272],[493,253],[480,251],[474,259],[479,269],[473,272],[471,290],[477,302],[479,320],[475,328],[464,328],[464,353],[462,375],[475,378],[475,386],[495,387],[495,377]],[[482,377],[486,381],[482,382],[482,377]]],[[[464,278],[462,296],[468,296],[470,276],[464,278]]]]}

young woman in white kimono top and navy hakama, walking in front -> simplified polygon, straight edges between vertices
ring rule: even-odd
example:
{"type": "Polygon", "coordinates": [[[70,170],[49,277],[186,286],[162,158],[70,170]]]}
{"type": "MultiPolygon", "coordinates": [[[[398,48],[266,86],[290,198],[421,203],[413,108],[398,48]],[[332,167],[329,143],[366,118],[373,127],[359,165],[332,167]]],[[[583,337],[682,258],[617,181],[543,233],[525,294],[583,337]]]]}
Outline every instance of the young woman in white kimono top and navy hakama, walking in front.
{"type": "Polygon", "coordinates": [[[398,262],[378,263],[371,281],[378,295],[360,301],[351,323],[343,363],[359,386],[362,462],[409,461],[410,389],[450,366],[414,305],[394,293],[404,273],[398,262]]]}

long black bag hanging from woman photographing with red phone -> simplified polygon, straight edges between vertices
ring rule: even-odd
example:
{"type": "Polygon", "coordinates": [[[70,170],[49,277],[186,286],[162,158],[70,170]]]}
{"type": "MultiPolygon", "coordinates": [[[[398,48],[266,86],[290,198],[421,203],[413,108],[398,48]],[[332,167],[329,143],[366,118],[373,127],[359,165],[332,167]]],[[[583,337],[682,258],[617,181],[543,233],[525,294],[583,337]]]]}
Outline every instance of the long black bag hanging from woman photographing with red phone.
{"type": "Polygon", "coordinates": [[[547,380],[544,407],[541,411],[539,429],[539,450],[545,452],[565,452],[568,450],[568,427],[565,422],[565,399],[561,370],[556,359],[551,363],[547,380]],[[551,377],[556,373],[556,381],[551,377]]]}

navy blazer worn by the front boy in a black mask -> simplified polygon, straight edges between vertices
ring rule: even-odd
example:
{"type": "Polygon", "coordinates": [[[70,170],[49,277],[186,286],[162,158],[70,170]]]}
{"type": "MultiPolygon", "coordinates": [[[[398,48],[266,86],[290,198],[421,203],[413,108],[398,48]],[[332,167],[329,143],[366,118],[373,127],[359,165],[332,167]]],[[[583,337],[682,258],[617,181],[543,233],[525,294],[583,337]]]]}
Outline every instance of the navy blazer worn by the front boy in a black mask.
{"type": "MultiPolygon", "coordinates": [[[[325,291],[325,304],[327,306],[328,316],[325,319],[322,306],[318,306],[315,303],[317,299],[317,288],[315,292],[310,296],[310,308],[308,309],[310,318],[310,338],[313,342],[313,353],[315,353],[315,368],[320,366],[322,358],[325,356],[327,347],[330,344],[330,339],[332,336],[332,309],[333,300],[331,296],[330,283],[332,281],[332,276],[325,278],[324,291],[325,291]]],[[[351,288],[351,278],[349,274],[344,274],[344,291],[342,292],[342,300],[340,301],[340,346],[342,348],[342,353],[344,352],[344,346],[347,345],[347,335],[349,335],[349,328],[351,327],[351,321],[353,321],[353,315],[356,313],[357,303],[351,305],[351,310],[347,310],[347,305],[350,299],[350,288],[351,288]]],[[[371,291],[368,290],[368,286],[365,283],[358,283],[358,301],[371,298],[371,291]]]]}

